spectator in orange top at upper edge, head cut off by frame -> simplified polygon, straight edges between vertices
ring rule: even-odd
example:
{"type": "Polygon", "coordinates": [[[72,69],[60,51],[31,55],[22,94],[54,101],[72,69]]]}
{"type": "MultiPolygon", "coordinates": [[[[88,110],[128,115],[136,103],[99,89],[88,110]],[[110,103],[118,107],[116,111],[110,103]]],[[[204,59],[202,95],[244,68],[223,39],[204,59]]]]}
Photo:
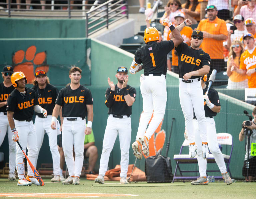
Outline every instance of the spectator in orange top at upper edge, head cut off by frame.
{"type": "Polygon", "coordinates": [[[186,19],[191,19],[193,24],[200,21],[200,3],[198,0],[187,0],[181,7],[186,19]]]}

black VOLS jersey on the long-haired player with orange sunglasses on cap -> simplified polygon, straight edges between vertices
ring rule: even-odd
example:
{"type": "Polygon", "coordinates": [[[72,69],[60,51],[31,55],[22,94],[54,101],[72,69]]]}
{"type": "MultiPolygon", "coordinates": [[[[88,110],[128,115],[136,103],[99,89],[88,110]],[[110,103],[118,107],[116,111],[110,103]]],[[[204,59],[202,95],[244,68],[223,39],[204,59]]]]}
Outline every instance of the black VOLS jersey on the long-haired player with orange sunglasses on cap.
{"type": "MultiPolygon", "coordinates": [[[[51,84],[46,84],[44,89],[40,89],[38,85],[35,85],[32,89],[36,92],[39,105],[47,111],[47,115],[52,115],[55,101],[59,93],[58,89],[51,84]]],[[[35,114],[43,117],[42,113],[35,112],[35,114]]]]}

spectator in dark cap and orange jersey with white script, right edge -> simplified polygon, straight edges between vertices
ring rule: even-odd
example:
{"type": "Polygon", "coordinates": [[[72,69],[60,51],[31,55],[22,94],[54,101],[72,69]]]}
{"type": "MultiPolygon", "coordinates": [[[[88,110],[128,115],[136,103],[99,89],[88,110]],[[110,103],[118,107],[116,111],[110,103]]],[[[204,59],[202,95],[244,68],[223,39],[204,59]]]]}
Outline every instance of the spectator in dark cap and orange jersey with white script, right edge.
{"type": "Polygon", "coordinates": [[[256,46],[254,46],[254,36],[251,33],[246,34],[243,42],[247,46],[247,50],[241,54],[240,69],[232,66],[231,71],[242,75],[246,74],[248,87],[256,88],[256,46]]]}

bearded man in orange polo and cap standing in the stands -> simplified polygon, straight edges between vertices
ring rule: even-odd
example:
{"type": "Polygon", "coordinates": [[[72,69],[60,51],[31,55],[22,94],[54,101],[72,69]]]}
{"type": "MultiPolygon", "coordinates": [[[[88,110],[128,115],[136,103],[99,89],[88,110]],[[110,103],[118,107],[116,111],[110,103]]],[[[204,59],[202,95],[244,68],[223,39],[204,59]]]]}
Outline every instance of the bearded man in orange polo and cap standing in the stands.
{"type": "Polygon", "coordinates": [[[203,32],[204,42],[201,44],[202,50],[211,57],[210,73],[213,69],[217,72],[224,71],[223,41],[227,39],[228,31],[224,20],[217,17],[216,6],[206,7],[208,19],[201,20],[197,30],[203,32]]]}

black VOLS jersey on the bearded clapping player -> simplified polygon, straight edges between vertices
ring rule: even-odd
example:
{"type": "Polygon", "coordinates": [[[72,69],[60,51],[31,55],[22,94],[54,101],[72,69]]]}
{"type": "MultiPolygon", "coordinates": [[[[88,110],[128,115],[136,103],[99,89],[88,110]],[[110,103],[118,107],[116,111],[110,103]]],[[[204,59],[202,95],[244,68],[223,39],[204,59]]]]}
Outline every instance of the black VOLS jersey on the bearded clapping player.
{"type": "MultiPolygon", "coordinates": [[[[136,97],[136,89],[127,85],[126,89],[131,97],[136,97]]],[[[106,90],[106,101],[105,104],[109,108],[108,114],[113,115],[131,115],[132,107],[128,106],[124,99],[123,90],[115,85],[115,91],[112,91],[111,88],[106,90]]]]}

